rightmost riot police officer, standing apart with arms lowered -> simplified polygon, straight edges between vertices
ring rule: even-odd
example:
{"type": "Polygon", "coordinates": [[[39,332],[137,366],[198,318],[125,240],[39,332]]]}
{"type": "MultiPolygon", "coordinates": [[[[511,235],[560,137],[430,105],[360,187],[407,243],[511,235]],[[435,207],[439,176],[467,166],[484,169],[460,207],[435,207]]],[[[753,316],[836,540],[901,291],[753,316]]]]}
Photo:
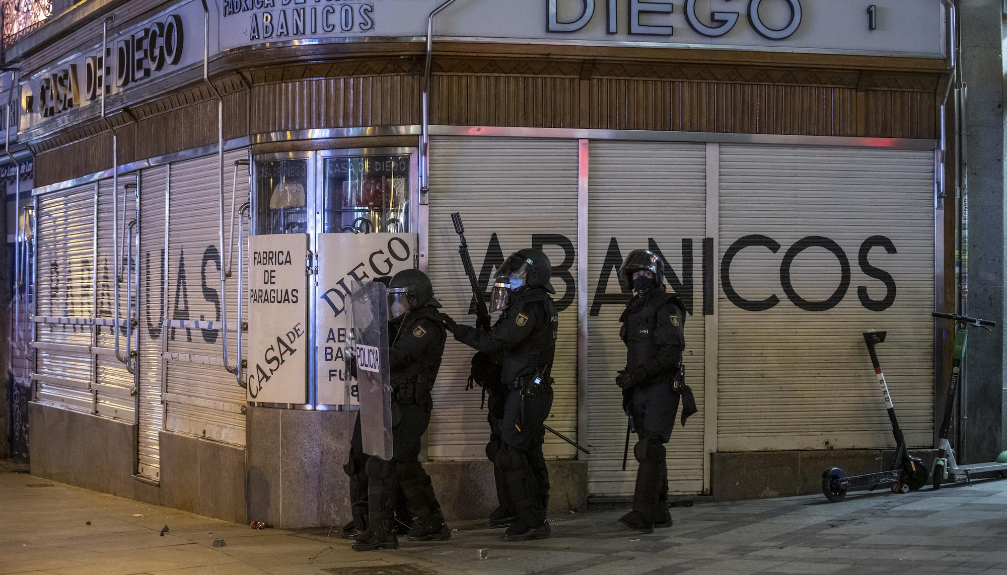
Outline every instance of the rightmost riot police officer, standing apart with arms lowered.
{"type": "Polygon", "coordinates": [[[664,261],[645,249],[629,252],[619,268],[620,281],[634,295],[619,318],[626,367],[615,383],[622,389],[622,407],[636,430],[633,455],[639,467],[632,511],[618,522],[644,533],[672,525],[665,444],[675,427],[681,395],[677,376],[685,350],[685,306],[666,292],[664,276],[664,261]]]}

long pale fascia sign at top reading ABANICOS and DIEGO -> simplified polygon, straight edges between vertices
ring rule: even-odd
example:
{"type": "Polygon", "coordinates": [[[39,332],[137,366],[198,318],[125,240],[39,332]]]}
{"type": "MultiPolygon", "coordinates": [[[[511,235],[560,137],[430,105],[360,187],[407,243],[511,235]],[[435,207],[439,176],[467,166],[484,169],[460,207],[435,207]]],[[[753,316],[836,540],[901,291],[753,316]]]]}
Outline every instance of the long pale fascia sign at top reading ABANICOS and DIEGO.
{"type": "MultiPolygon", "coordinates": [[[[221,0],[222,50],[307,38],[422,38],[443,0],[221,0]]],[[[942,57],[940,0],[462,0],[442,39],[636,42],[942,57]]]]}

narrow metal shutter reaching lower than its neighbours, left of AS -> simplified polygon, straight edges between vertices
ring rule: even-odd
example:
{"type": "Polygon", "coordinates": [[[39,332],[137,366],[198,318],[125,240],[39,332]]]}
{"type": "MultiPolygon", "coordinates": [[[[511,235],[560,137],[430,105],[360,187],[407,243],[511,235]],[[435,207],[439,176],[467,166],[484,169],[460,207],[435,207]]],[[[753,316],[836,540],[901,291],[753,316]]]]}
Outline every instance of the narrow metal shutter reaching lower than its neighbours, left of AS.
{"type": "Polygon", "coordinates": [[[161,397],[163,342],[161,321],[165,304],[164,232],[167,214],[168,167],[140,175],[140,413],[139,474],[160,480],[160,431],[164,426],[161,397]]]}

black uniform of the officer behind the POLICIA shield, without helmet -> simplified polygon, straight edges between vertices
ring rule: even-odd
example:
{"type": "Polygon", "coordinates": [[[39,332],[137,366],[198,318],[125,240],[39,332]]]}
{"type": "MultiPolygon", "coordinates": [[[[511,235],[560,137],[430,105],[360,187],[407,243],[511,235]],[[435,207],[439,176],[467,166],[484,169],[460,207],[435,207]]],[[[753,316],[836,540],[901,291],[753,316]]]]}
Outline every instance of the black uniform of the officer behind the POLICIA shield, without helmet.
{"type": "MultiPolygon", "coordinates": [[[[367,525],[370,532],[357,537],[354,548],[366,545],[368,540],[374,543],[394,539],[392,530],[400,489],[417,519],[409,532],[410,539],[426,541],[450,537],[450,532],[434,533],[443,527],[444,517],[434,496],[430,476],[419,460],[420,439],[430,423],[433,407],[431,391],[440,369],[446,340],[437,308],[423,306],[391,322],[389,338],[393,455],[390,461],[368,457],[364,464],[366,472],[363,474],[356,468],[346,469],[350,474],[354,523],[362,513],[369,516],[367,525]],[[356,503],[365,493],[368,497],[364,504],[366,507],[362,509],[356,503]]],[[[362,454],[361,423],[357,417],[351,440],[350,462],[347,465],[358,466],[362,454]],[[353,456],[353,451],[357,453],[356,457],[353,456]]]]}

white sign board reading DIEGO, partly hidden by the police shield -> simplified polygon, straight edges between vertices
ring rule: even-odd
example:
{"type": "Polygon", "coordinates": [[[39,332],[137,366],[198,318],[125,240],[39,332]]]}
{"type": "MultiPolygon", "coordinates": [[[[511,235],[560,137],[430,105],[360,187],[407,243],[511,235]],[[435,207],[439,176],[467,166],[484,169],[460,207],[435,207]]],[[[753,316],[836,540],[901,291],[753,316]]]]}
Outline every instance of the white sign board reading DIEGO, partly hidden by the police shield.
{"type": "MultiPolygon", "coordinates": [[[[415,233],[322,233],[318,235],[318,403],[355,405],[356,384],[345,371],[352,280],[391,277],[414,266],[415,233]]],[[[357,369],[361,367],[357,361],[357,369]]]]}

